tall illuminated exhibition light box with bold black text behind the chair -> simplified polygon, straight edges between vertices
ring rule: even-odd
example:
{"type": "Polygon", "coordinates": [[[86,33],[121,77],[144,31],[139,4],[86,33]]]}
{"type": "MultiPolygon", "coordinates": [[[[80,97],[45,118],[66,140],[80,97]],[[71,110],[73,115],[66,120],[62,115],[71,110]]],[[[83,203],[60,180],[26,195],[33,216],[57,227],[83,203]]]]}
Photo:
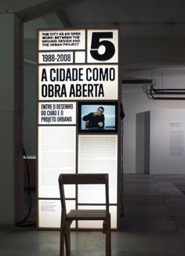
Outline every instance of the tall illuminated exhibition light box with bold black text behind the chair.
{"type": "MultiPolygon", "coordinates": [[[[60,173],[108,173],[111,228],[118,228],[118,34],[117,28],[38,30],[38,228],[60,228],[60,173]],[[84,117],[100,106],[103,121],[95,127],[84,117]]],[[[104,189],[99,185],[66,185],[65,192],[67,211],[104,208],[104,189]]],[[[71,227],[102,228],[102,223],[74,221],[71,227]]]]}

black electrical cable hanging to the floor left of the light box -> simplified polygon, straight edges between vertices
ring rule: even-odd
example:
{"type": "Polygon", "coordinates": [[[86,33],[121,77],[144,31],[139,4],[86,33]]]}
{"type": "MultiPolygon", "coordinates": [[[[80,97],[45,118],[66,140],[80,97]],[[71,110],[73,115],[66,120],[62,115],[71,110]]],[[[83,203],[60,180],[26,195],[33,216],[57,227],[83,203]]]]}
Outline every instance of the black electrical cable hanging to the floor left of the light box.
{"type": "Polygon", "coordinates": [[[27,226],[33,226],[36,223],[34,221],[28,221],[28,217],[30,217],[31,210],[32,210],[32,198],[31,198],[31,182],[30,182],[30,169],[27,161],[27,153],[24,147],[21,147],[21,153],[25,157],[26,160],[26,172],[27,172],[27,207],[28,212],[26,217],[22,221],[16,222],[16,226],[18,227],[27,227],[27,226]]]}

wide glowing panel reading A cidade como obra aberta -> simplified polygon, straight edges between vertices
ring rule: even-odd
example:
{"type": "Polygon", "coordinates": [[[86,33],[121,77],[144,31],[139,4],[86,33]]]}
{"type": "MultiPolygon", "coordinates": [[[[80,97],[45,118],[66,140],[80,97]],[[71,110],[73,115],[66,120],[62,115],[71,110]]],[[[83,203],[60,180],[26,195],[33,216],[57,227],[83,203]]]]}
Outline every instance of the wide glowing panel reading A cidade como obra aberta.
{"type": "Polygon", "coordinates": [[[118,99],[118,65],[40,65],[38,98],[118,99]]]}

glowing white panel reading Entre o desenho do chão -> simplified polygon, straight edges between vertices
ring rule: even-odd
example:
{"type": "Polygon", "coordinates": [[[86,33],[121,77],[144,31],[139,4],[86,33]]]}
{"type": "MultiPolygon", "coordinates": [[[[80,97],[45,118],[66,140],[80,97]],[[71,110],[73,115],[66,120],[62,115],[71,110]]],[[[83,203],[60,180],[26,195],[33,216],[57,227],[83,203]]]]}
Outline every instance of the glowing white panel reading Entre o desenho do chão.
{"type": "Polygon", "coordinates": [[[76,102],[39,102],[38,124],[76,124],[76,102]]]}

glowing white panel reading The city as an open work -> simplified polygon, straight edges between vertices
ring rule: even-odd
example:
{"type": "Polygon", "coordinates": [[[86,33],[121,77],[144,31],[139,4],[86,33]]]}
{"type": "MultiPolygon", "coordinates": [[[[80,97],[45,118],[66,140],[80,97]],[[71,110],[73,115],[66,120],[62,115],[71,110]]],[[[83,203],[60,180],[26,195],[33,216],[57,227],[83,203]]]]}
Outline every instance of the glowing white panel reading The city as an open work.
{"type": "Polygon", "coordinates": [[[85,30],[39,31],[38,50],[85,50],[85,30]]]}

